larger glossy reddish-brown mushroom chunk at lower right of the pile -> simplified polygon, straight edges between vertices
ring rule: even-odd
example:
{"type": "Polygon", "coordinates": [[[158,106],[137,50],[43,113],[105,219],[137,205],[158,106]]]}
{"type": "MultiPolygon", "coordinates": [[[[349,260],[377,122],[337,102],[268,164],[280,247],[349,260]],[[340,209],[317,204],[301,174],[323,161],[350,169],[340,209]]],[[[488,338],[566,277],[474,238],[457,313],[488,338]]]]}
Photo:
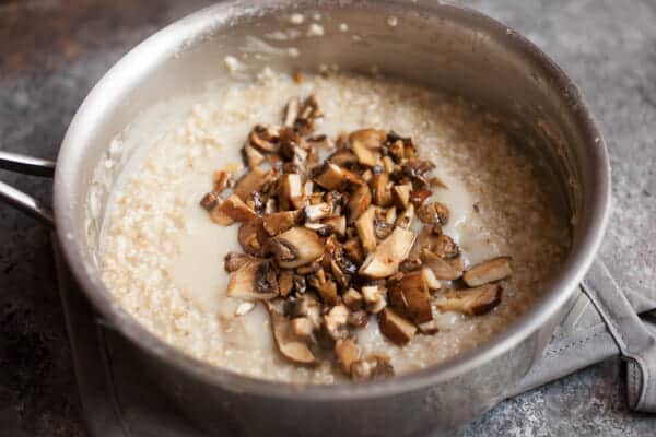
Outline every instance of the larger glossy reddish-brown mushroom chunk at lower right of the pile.
{"type": "Polygon", "coordinates": [[[421,271],[407,273],[387,284],[389,306],[414,323],[433,319],[429,284],[421,271]]]}

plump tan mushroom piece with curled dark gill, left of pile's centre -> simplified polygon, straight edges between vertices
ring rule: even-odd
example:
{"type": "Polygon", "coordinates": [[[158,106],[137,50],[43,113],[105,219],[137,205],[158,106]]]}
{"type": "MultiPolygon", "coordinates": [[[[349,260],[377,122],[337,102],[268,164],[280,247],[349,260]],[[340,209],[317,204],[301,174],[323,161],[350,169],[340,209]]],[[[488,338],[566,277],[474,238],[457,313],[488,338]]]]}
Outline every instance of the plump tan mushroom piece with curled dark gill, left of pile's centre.
{"type": "Polygon", "coordinates": [[[292,227],[271,238],[270,247],[278,264],[283,269],[309,264],[324,255],[319,236],[305,227],[292,227]]]}

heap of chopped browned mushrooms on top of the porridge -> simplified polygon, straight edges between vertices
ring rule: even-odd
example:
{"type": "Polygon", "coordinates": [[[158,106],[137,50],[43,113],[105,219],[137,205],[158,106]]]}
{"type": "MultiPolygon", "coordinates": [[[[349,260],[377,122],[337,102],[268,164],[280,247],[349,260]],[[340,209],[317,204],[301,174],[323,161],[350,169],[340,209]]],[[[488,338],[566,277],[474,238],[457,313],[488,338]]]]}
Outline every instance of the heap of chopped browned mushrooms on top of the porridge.
{"type": "Polygon", "coordinates": [[[293,98],[281,127],[248,135],[247,169],[218,170],[200,204],[219,225],[239,223],[244,253],[224,263],[227,295],[244,300],[235,316],[262,302],[285,358],[336,359],[355,381],[387,377],[389,357],[363,356],[356,343],[370,317],[403,345],[438,331],[434,310],[487,314],[501,300],[511,259],[466,271],[442,231],[448,209],[430,201],[446,186],[412,139],[364,129],[331,141],[314,133],[323,116],[314,95],[293,98]]]}

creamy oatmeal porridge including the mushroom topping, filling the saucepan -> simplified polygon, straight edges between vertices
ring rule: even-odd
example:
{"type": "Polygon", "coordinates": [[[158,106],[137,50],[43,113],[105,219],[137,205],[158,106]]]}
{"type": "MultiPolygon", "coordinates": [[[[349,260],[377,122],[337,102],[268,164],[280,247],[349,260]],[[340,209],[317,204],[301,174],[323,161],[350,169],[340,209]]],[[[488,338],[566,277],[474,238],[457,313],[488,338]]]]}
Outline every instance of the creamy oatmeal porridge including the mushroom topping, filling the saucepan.
{"type": "Polygon", "coordinates": [[[524,314],[570,244],[554,185],[494,117],[379,78],[208,91],[133,160],[103,280],[164,341],[257,378],[450,358],[524,314]]]}

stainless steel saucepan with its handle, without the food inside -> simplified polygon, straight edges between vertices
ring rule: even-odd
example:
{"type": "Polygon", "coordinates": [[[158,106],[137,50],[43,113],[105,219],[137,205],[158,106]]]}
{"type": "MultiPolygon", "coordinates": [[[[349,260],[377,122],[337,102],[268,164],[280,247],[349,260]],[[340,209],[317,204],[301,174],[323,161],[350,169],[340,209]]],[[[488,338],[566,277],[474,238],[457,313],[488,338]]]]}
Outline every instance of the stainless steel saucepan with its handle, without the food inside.
{"type": "MultiPolygon", "coordinates": [[[[307,24],[297,28],[305,31],[307,24]]],[[[2,154],[0,163],[42,176],[52,170],[50,163],[16,155],[2,154]]],[[[4,200],[51,223],[49,211],[34,199],[7,185],[0,191],[4,200]]],[[[202,427],[231,435],[419,436],[450,432],[490,409],[540,356],[599,246],[609,193],[604,140],[578,90],[507,26],[433,0],[235,0],[159,32],[94,87],[61,145],[54,216],[58,243],[80,288],[105,323],[133,346],[147,374],[202,427]],[[293,13],[319,13],[326,35],[265,37],[289,27],[293,13]],[[255,40],[276,49],[255,56],[255,40]],[[522,137],[557,175],[573,216],[571,253],[543,298],[473,351],[419,373],[362,385],[255,380],[200,363],[150,334],[101,281],[87,216],[94,169],[112,139],[140,111],[227,78],[222,60],[243,52],[250,54],[245,62],[253,71],[265,66],[316,70],[323,63],[368,72],[375,67],[501,114],[511,134],[522,137]]],[[[102,205],[106,196],[95,201],[102,205]]]]}

